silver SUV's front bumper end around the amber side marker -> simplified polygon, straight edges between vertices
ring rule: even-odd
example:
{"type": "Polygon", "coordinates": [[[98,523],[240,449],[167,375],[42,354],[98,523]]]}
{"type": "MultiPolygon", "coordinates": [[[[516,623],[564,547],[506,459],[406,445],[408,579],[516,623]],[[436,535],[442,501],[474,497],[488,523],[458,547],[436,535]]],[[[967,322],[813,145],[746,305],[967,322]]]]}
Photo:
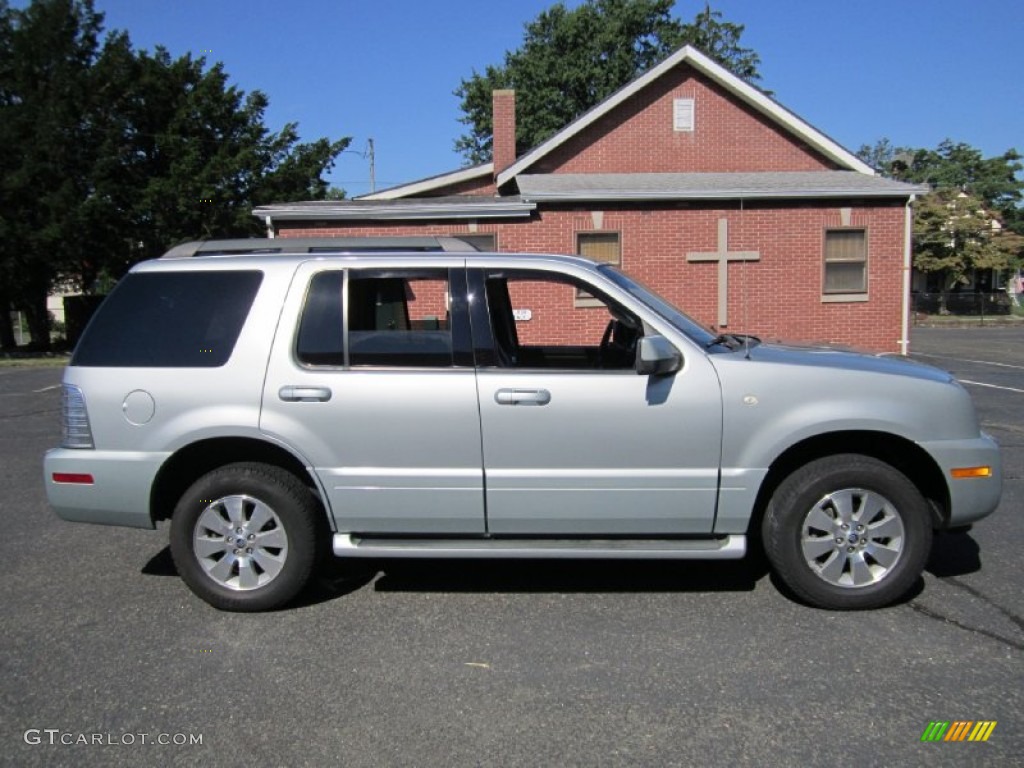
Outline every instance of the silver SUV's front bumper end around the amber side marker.
{"type": "Polygon", "coordinates": [[[982,432],[975,439],[924,442],[922,447],[938,462],[949,488],[947,526],[966,525],[995,511],[1002,495],[1002,462],[994,439],[982,432]],[[951,474],[956,468],[983,466],[991,467],[990,476],[955,479],[951,474]]]}

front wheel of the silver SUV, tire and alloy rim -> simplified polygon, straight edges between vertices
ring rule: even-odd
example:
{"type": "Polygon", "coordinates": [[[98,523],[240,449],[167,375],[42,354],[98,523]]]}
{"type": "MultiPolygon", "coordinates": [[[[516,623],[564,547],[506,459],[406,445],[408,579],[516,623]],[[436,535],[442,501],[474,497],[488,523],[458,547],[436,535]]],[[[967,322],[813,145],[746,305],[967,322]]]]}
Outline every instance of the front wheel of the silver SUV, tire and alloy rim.
{"type": "Polygon", "coordinates": [[[837,610],[878,608],[920,579],[932,547],[931,512],[889,464],[830,456],[779,484],[762,542],[775,574],[800,599],[837,610]]]}

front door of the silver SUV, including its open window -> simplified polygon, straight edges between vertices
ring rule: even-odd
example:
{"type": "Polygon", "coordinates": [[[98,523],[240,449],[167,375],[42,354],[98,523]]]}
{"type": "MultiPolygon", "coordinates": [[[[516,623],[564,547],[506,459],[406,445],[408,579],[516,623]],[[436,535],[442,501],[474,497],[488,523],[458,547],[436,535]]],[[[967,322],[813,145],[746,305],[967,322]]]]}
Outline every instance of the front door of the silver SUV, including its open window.
{"type": "Polygon", "coordinates": [[[707,358],[639,376],[637,340],[656,329],[598,289],[543,270],[470,280],[484,299],[473,333],[488,531],[711,532],[722,404],[707,358]]]}

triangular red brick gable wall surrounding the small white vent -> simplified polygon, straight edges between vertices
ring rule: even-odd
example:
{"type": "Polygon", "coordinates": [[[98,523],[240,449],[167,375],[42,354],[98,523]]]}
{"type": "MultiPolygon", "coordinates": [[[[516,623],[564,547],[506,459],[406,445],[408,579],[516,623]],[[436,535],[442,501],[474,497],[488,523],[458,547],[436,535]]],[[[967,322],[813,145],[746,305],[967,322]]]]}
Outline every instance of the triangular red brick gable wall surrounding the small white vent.
{"type": "Polygon", "coordinates": [[[838,168],[779,132],[690,67],[680,66],[526,173],[710,173],[838,168]],[[694,130],[673,130],[673,99],[694,100],[694,130]]]}

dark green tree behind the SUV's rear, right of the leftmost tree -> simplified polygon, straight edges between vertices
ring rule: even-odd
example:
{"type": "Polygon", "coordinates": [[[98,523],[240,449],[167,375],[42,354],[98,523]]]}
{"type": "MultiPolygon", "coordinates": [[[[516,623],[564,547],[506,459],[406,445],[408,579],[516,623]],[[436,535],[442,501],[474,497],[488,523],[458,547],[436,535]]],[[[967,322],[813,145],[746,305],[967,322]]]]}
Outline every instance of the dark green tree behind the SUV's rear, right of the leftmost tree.
{"type": "Polygon", "coordinates": [[[89,201],[113,258],[83,264],[86,284],[184,239],[261,233],[252,208],[323,199],[322,174],[349,142],[298,143],[294,123],[271,134],[266,96],[229,86],[221,65],[172,59],[159,47],[134,53],[124,35],[109,39],[96,70],[100,82],[120,84],[102,94],[97,140],[106,143],[89,201]]]}

